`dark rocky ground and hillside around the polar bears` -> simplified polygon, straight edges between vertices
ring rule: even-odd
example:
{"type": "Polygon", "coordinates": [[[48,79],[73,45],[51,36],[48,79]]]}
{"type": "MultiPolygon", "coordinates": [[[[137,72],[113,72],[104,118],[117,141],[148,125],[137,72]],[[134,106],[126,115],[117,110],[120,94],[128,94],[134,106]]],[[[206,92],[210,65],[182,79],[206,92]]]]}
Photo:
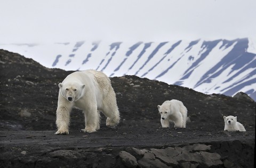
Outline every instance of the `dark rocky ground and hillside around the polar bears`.
{"type": "Polygon", "coordinates": [[[71,71],[45,68],[0,50],[0,167],[253,167],[256,103],[206,95],[186,87],[123,76],[111,78],[121,122],[83,133],[80,110],[69,135],[55,135],[58,83],[71,71]],[[188,109],[186,129],[161,128],[157,105],[178,99],[188,109]],[[237,116],[246,132],[223,131],[237,116]]]}

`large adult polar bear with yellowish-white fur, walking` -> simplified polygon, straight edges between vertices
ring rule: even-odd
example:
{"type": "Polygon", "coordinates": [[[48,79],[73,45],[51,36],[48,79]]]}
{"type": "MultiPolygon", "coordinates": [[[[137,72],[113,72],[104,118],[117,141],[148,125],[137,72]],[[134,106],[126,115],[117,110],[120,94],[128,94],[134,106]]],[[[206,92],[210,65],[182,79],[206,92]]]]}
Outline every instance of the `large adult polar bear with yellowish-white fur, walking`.
{"type": "Polygon", "coordinates": [[[55,134],[68,134],[70,112],[73,107],[84,111],[84,132],[95,132],[100,129],[100,114],[107,117],[107,126],[116,126],[119,123],[119,111],[116,103],[116,94],[111,86],[110,79],[101,71],[84,70],[68,75],[59,83],[58,108],[56,124],[58,131],[55,134]]]}

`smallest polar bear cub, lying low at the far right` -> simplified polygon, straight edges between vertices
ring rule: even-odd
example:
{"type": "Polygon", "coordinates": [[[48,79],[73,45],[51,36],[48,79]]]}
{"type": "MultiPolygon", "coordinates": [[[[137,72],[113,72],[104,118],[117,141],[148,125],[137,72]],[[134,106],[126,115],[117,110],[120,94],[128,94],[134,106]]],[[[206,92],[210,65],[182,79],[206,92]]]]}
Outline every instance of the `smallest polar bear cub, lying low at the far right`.
{"type": "Polygon", "coordinates": [[[245,131],[244,126],[237,122],[237,117],[234,116],[223,116],[224,122],[225,122],[225,127],[224,131],[245,131]]]}

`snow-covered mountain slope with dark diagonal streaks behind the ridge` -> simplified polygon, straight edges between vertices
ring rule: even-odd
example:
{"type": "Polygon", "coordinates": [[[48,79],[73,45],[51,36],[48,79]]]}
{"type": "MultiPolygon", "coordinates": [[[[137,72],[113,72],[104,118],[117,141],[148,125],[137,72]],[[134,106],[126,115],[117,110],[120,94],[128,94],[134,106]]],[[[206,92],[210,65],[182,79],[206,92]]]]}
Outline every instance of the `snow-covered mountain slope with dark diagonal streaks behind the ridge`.
{"type": "Polygon", "coordinates": [[[32,58],[45,67],[97,69],[108,76],[137,75],[199,92],[256,100],[256,44],[228,41],[89,42],[6,44],[0,48],[32,58]]]}

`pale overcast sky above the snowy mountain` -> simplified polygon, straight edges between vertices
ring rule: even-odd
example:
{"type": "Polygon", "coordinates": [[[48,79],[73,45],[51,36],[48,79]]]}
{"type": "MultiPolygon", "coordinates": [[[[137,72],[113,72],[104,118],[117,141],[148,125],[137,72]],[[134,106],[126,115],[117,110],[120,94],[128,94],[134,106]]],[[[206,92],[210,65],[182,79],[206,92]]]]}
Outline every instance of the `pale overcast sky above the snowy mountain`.
{"type": "Polygon", "coordinates": [[[256,37],[255,0],[0,0],[0,43],[256,37]]]}

